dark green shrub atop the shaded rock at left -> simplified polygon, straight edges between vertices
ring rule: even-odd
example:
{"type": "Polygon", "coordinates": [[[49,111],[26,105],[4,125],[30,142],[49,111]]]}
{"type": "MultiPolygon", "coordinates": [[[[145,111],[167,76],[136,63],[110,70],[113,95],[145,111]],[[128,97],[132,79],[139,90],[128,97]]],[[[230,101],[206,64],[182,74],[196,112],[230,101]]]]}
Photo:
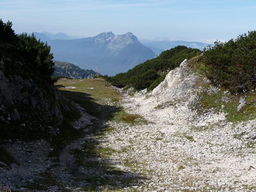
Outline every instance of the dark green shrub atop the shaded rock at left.
{"type": "Polygon", "coordinates": [[[32,79],[41,83],[52,83],[51,75],[54,72],[54,63],[50,51],[51,47],[44,42],[40,42],[40,40],[36,40],[35,35],[29,36],[26,33],[15,35],[12,22],[4,23],[0,19],[0,56],[16,58],[16,60],[18,59],[26,64],[20,70],[20,66],[13,67],[15,63],[12,62],[10,65],[6,65],[4,69],[6,74],[8,74],[8,71],[15,74],[15,70],[19,69],[19,72],[23,71],[22,74],[21,72],[17,74],[19,76],[32,77],[32,79]]]}

